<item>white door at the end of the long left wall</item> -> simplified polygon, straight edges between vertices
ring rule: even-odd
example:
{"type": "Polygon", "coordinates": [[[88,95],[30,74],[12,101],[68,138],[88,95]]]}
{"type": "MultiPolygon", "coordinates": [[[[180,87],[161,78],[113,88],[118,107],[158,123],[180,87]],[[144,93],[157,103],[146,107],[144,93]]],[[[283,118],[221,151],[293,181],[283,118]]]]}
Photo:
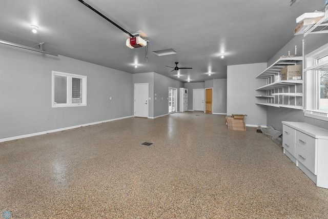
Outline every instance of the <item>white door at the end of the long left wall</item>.
{"type": "Polygon", "coordinates": [[[134,84],[134,116],[148,117],[148,84],[134,84]]]}

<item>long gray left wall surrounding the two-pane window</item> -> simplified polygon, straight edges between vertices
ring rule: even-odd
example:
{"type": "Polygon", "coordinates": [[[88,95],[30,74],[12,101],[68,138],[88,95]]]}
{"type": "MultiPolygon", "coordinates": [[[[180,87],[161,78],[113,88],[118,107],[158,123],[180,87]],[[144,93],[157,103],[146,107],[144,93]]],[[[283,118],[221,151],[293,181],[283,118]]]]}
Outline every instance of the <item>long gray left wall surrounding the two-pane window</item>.
{"type": "Polygon", "coordinates": [[[0,66],[0,138],[132,115],[130,73],[7,45],[0,66]],[[52,71],[86,75],[87,106],[51,108],[52,71]]]}

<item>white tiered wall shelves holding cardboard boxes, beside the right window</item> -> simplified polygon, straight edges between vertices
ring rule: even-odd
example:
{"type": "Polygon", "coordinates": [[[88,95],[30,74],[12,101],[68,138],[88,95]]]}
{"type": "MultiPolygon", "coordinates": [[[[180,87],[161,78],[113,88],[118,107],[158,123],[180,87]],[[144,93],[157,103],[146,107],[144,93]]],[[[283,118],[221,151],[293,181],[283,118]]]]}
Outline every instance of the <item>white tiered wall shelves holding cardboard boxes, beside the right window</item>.
{"type": "Polygon", "coordinates": [[[302,56],[281,57],[270,67],[262,71],[256,78],[267,79],[267,84],[257,88],[257,91],[265,91],[255,97],[265,98],[266,102],[257,105],[283,107],[291,109],[303,109],[303,80],[280,81],[280,70],[289,65],[297,65],[303,61],[302,56]]]}

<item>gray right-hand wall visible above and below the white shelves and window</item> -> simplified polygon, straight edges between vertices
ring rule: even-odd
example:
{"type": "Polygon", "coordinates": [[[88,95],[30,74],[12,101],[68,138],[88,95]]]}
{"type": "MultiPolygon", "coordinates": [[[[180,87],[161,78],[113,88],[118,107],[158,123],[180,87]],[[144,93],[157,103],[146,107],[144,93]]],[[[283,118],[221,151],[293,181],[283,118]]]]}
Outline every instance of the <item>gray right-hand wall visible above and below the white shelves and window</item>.
{"type": "MultiPolygon", "coordinates": [[[[302,39],[303,35],[295,36],[288,44],[286,44],[276,55],[274,55],[268,65],[274,63],[280,56],[288,54],[288,51],[293,51],[294,47],[297,45],[297,53],[302,55],[302,39]]],[[[327,34],[310,34],[304,38],[304,53],[308,54],[313,50],[328,43],[327,34]]],[[[302,110],[287,109],[287,108],[275,108],[268,107],[267,122],[268,125],[273,126],[275,129],[282,131],[282,121],[292,121],[292,122],[306,122],[321,128],[328,129],[328,122],[317,120],[315,118],[310,118],[304,116],[302,110]]]]}

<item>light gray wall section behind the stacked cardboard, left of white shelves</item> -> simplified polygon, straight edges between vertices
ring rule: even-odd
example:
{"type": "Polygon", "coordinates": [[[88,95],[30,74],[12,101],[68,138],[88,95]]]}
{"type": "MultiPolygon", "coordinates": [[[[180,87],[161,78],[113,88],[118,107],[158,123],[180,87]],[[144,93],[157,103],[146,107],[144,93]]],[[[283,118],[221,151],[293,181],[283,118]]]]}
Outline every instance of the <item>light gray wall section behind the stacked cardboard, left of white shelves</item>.
{"type": "Polygon", "coordinates": [[[228,66],[227,114],[247,114],[248,125],[267,125],[267,109],[258,106],[256,88],[265,85],[265,79],[255,78],[267,68],[267,63],[228,66]]]}

